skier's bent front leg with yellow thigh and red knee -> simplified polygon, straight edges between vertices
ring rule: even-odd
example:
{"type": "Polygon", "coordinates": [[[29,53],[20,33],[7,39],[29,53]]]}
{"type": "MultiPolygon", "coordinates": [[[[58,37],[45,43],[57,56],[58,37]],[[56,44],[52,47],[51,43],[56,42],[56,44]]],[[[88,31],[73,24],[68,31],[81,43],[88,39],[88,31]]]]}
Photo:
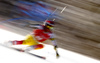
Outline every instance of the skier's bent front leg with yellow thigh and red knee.
{"type": "Polygon", "coordinates": [[[27,35],[22,45],[29,45],[24,49],[25,51],[42,49],[44,47],[42,44],[39,44],[38,41],[32,35],[27,35]]]}

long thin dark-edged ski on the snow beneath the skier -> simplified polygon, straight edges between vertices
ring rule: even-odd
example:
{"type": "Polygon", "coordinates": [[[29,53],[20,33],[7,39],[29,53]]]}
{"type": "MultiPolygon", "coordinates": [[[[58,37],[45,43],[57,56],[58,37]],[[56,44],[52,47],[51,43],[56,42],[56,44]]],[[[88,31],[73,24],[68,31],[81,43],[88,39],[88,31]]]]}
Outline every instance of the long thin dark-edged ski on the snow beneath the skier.
{"type": "MultiPolygon", "coordinates": [[[[0,46],[3,46],[3,47],[6,47],[6,48],[9,48],[9,49],[13,49],[15,51],[21,52],[21,49],[9,47],[9,46],[6,46],[5,44],[1,44],[0,43],[0,46]]],[[[36,55],[36,54],[30,53],[30,52],[24,52],[24,53],[27,53],[27,54],[32,55],[32,56],[35,56],[35,57],[40,58],[40,59],[44,59],[44,60],[46,59],[46,57],[43,57],[43,56],[40,56],[40,55],[36,55]]]]}

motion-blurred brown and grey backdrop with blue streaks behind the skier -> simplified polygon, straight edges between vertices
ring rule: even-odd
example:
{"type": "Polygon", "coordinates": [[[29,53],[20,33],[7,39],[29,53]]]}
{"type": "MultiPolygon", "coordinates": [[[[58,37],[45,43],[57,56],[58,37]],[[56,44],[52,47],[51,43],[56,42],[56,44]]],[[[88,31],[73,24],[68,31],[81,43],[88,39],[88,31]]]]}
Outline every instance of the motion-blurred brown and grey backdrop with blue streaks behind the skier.
{"type": "Polygon", "coordinates": [[[100,0],[0,0],[0,28],[26,35],[47,19],[60,48],[100,60],[100,0]]]}

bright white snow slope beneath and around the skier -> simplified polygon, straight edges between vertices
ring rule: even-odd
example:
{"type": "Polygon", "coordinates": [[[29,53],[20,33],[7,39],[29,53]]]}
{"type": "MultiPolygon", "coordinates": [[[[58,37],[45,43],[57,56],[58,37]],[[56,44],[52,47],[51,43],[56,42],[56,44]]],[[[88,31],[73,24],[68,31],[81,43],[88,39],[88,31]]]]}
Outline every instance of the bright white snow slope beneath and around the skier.
{"type": "MultiPolygon", "coordinates": [[[[0,43],[9,40],[21,40],[24,36],[0,29],[0,43]]],[[[99,60],[83,56],[81,54],[58,48],[60,58],[56,59],[53,46],[45,45],[41,50],[30,51],[32,53],[45,56],[47,59],[43,60],[24,52],[17,52],[15,50],[0,46],[0,63],[100,63],[99,60]]],[[[25,47],[25,46],[14,46],[25,47]]]]}

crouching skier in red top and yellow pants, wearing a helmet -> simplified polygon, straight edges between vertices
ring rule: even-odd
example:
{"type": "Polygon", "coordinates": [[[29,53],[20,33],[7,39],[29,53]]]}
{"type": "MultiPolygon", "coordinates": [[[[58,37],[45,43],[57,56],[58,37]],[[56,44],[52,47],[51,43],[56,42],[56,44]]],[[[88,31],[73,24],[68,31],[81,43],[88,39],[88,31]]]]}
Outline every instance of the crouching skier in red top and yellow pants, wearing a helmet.
{"type": "MultiPolygon", "coordinates": [[[[30,25],[30,27],[37,27],[37,29],[34,29],[31,34],[28,34],[24,40],[9,41],[8,44],[10,44],[10,46],[28,45],[24,50],[21,50],[22,52],[27,52],[33,49],[42,49],[44,47],[43,42],[50,39],[54,45],[54,49],[56,50],[57,44],[54,38],[54,33],[52,32],[54,21],[46,20],[43,25],[30,25]]],[[[57,51],[56,54],[59,56],[57,51]]]]}

